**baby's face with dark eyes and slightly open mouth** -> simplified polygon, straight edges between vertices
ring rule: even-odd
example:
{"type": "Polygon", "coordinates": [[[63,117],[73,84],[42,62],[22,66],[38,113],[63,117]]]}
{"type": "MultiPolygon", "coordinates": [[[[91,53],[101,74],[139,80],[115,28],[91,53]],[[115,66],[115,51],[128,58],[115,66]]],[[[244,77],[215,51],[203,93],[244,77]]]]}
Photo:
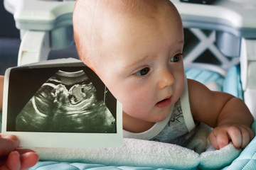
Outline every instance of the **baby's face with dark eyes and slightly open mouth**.
{"type": "Polygon", "coordinates": [[[124,114],[150,123],[164,120],[184,84],[179,18],[138,16],[116,23],[105,36],[107,48],[93,68],[124,114]]]}

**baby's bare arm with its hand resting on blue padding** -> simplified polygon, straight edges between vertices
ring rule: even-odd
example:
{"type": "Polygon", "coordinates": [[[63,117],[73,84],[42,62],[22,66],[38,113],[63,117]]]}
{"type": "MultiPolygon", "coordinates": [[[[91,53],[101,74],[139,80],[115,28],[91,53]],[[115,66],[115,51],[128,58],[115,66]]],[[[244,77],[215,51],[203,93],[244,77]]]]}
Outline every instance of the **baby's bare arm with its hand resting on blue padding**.
{"type": "Polygon", "coordinates": [[[254,137],[253,118],[240,98],[210,91],[193,80],[188,80],[188,91],[193,118],[214,128],[209,140],[215,148],[225,147],[230,140],[237,148],[246,147],[254,137]]]}

